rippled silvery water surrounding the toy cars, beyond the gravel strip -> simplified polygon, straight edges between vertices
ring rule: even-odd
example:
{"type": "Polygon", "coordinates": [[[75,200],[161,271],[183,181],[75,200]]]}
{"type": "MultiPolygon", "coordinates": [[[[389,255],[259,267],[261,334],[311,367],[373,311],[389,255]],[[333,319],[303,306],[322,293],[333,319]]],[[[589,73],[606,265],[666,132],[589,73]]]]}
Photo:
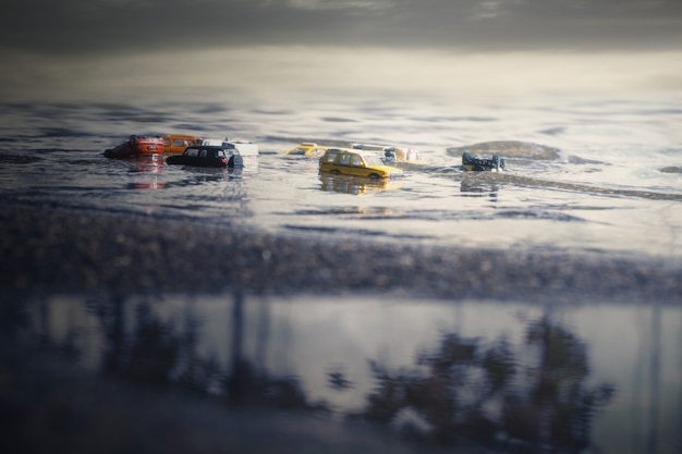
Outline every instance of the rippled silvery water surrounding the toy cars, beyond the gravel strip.
{"type": "Polygon", "coordinates": [[[376,95],[5,105],[0,197],[278,233],[679,258],[678,101],[462,106],[376,95]],[[129,134],[165,133],[247,138],[260,156],[236,174],[101,157],[129,134]],[[303,140],[403,145],[423,164],[388,183],[319,175],[316,159],[281,156],[303,140]],[[500,155],[508,170],[464,174],[463,150],[500,155]]]}

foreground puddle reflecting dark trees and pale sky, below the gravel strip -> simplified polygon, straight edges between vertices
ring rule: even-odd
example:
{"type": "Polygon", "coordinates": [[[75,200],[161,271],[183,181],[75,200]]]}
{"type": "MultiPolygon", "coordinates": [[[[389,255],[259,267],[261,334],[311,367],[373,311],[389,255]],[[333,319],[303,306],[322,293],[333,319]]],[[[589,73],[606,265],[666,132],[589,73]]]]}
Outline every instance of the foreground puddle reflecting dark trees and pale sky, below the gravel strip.
{"type": "Polygon", "coordinates": [[[24,352],[228,407],[365,421],[425,447],[463,440],[496,452],[682,446],[680,307],[236,292],[54,297],[2,310],[3,344],[24,352]]]}

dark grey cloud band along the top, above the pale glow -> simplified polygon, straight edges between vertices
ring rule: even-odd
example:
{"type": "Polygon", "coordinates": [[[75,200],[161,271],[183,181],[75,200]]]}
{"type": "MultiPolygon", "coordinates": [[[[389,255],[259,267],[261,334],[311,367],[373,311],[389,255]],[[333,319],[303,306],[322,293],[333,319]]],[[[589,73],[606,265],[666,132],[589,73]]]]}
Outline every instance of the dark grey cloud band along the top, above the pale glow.
{"type": "Polygon", "coordinates": [[[679,50],[682,0],[4,0],[12,50],[256,45],[679,50]]]}

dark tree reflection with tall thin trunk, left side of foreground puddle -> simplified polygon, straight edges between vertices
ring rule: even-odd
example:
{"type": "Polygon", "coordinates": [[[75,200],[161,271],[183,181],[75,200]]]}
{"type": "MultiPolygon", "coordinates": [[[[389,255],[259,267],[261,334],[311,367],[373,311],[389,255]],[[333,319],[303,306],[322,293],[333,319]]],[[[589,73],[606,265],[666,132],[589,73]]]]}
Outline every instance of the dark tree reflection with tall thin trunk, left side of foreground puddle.
{"type": "Polygon", "coordinates": [[[275,408],[327,410],[324,404],[310,404],[294,377],[273,376],[257,368],[243,354],[244,298],[233,295],[231,359],[221,368],[211,355],[198,352],[200,326],[184,315],[184,333],[171,322],[161,321],[143,300],[135,307],[135,326],[127,334],[126,304],[122,299],[89,302],[105,332],[102,371],[106,375],[154,384],[174,385],[202,394],[224,397],[229,404],[275,408]]]}

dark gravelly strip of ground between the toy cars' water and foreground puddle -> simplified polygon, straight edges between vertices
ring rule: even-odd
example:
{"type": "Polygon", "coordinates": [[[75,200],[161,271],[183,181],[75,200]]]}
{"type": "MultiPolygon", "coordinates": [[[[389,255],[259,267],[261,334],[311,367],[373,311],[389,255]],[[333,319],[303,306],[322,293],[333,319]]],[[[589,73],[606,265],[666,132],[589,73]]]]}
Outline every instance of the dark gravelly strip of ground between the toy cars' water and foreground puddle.
{"type": "Polygon", "coordinates": [[[348,294],[679,303],[682,263],[558,250],[338,242],[200,220],[3,206],[2,285],[14,294],[348,294]]]}

